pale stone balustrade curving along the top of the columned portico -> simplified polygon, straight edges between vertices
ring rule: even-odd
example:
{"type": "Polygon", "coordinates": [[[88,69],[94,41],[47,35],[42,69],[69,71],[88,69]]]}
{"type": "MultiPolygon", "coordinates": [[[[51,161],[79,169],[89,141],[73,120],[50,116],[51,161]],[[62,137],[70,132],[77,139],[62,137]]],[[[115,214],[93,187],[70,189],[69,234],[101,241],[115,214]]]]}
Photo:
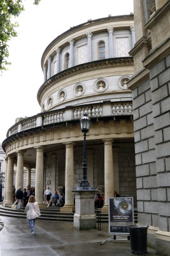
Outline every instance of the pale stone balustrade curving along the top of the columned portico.
{"type": "Polygon", "coordinates": [[[77,108],[65,108],[50,111],[46,113],[40,113],[36,116],[26,118],[17,122],[7,132],[7,137],[17,134],[21,131],[41,127],[49,124],[56,124],[60,122],[66,122],[71,120],[78,120],[83,116],[83,113],[87,112],[90,118],[104,117],[104,116],[125,116],[133,115],[132,102],[129,103],[103,103],[93,104],[93,106],[80,106],[77,108]]]}

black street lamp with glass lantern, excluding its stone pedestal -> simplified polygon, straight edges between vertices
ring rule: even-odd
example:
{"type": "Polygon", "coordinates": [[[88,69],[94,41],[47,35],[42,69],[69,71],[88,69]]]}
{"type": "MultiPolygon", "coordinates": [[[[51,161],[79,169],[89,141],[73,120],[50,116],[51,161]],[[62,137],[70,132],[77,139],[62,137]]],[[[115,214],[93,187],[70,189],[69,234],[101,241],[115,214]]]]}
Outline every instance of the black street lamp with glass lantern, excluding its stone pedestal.
{"type": "Polygon", "coordinates": [[[80,119],[80,128],[83,132],[84,142],[83,142],[83,180],[81,180],[80,187],[90,187],[89,182],[87,181],[87,160],[86,160],[86,134],[90,129],[90,118],[87,116],[87,113],[83,114],[83,117],[80,119]]]}

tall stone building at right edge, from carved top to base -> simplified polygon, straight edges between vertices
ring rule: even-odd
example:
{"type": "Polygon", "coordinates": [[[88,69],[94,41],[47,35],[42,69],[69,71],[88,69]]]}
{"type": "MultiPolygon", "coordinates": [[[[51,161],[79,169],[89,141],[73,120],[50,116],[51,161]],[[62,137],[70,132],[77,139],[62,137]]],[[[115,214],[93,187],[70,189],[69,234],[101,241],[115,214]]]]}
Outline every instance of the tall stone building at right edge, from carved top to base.
{"type": "Polygon", "coordinates": [[[170,255],[170,1],[134,1],[132,90],[138,222],[148,241],[170,255]]]}

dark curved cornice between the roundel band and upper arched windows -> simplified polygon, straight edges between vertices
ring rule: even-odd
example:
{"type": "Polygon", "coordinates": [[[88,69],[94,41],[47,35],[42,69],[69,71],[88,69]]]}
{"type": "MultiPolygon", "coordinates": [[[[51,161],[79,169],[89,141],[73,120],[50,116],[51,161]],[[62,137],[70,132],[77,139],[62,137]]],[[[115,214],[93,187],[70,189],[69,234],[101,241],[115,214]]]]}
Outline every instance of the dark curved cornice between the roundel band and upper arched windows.
{"type": "Polygon", "coordinates": [[[80,65],[76,65],[71,68],[67,68],[66,70],[62,70],[61,72],[55,74],[54,76],[50,77],[48,80],[45,81],[41,85],[37,93],[37,99],[39,105],[41,104],[41,94],[44,93],[50,86],[54,83],[62,81],[67,77],[74,76],[76,74],[88,72],[89,70],[96,70],[101,68],[108,68],[108,67],[121,67],[121,66],[132,66],[133,65],[133,58],[132,56],[128,57],[120,57],[120,58],[109,58],[105,60],[97,60],[91,61],[88,63],[83,63],[80,65]]]}

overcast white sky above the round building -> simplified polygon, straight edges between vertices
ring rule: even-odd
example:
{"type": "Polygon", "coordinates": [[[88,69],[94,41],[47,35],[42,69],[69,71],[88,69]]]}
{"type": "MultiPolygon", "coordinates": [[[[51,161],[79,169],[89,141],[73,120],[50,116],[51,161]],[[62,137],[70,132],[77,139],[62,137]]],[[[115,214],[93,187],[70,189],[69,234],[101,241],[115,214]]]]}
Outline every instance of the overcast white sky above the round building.
{"type": "Polygon", "coordinates": [[[25,0],[25,11],[17,18],[18,36],[10,45],[11,65],[0,76],[0,143],[15,124],[15,118],[39,113],[36,99],[43,84],[41,56],[52,40],[88,19],[124,15],[133,12],[133,0],[25,0]]]}

